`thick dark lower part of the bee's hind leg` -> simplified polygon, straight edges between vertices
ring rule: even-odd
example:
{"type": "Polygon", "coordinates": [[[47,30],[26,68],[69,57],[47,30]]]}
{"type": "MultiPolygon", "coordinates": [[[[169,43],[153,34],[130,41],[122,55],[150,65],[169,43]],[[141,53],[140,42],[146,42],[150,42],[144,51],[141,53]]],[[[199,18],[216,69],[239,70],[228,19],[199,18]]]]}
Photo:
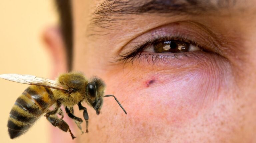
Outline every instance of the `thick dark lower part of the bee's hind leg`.
{"type": "Polygon", "coordinates": [[[58,118],[56,115],[50,115],[46,116],[47,120],[55,127],[58,127],[59,129],[63,130],[64,132],[69,132],[72,139],[76,138],[73,133],[71,132],[69,125],[63,120],[58,118]]]}

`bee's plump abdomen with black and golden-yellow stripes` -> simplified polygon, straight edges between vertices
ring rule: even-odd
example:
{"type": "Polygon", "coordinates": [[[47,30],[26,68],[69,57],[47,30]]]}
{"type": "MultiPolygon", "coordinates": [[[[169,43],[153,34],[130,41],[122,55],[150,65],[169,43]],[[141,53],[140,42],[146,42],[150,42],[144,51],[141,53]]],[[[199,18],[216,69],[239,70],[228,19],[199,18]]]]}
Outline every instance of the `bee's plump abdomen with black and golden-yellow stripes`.
{"type": "Polygon", "coordinates": [[[10,111],[7,124],[10,138],[24,134],[53,103],[53,93],[49,88],[29,86],[10,111]]]}

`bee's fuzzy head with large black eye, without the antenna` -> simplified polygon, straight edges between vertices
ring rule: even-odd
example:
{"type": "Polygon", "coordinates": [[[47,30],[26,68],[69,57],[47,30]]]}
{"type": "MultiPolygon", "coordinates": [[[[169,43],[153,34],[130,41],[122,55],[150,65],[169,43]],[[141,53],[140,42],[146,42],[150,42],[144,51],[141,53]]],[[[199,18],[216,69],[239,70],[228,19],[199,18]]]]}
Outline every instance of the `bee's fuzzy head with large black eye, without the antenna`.
{"type": "Polygon", "coordinates": [[[87,102],[96,110],[97,115],[100,114],[103,104],[104,91],[105,83],[97,77],[94,77],[86,86],[87,102]]]}

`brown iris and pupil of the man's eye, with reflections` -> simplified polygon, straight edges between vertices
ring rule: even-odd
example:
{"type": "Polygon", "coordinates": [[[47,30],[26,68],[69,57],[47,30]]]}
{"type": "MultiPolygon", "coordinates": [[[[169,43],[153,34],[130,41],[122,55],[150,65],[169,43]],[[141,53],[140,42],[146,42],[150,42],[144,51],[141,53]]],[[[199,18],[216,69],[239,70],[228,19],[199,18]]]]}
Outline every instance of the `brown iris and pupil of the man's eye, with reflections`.
{"type": "Polygon", "coordinates": [[[157,53],[163,53],[163,52],[187,52],[189,49],[189,43],[171,40],[171,41],[162,41],[155,43],[154,51],[157,53]]]}

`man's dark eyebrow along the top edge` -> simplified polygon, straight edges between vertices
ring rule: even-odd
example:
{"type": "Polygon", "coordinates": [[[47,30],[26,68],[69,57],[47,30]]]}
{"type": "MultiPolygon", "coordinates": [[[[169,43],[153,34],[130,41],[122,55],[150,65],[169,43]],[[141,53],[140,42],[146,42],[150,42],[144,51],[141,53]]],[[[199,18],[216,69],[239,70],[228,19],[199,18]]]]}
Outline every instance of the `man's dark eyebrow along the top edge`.
{"type": "Polygon", "coordinates": [[[93,13],[91,25],[110,29],[129,15],[195,15],[235,5],[236,0],[105,0],[93,13]]]}

